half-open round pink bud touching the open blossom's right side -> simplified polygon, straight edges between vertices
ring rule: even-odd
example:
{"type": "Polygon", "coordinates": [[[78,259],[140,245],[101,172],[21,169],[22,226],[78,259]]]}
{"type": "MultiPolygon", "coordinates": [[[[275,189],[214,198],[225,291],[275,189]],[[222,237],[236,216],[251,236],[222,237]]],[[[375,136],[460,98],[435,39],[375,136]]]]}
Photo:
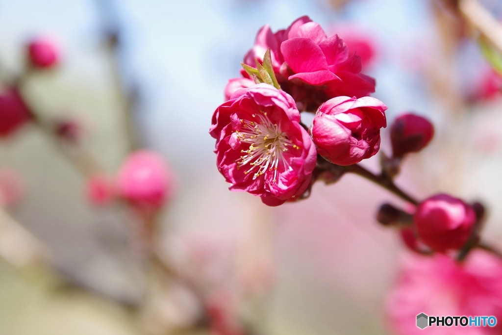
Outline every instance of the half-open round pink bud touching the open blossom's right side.
{"type": "Polygon", "coordinates": [[[387,126],[380,100],[339,96],[319,107],[309,132],[317,152],[338,165],[352,165],[380,149],[380,129],[387,126]]]}

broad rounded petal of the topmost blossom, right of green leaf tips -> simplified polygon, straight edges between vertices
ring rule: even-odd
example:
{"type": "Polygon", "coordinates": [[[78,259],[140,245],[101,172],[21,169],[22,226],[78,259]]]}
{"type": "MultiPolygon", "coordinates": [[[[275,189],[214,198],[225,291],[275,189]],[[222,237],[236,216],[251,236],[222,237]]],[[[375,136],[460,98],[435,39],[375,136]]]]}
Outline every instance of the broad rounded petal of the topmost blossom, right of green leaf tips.
{"type": "Polygon", "coordinates": [[[281,44],[284,61],[295,72],[327,70],[328,63],[321,48],[307,38],[292,38],[281,44]]]}

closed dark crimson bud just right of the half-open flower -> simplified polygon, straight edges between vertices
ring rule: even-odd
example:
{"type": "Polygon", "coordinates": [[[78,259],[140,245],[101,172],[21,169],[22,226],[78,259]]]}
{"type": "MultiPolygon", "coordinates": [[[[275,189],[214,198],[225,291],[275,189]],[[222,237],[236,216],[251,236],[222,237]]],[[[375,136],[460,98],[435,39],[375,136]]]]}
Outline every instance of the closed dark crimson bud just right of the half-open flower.
{"type": "Polygon", "coordinates": [[[397,118],[391,126],[391,142],[394,157],[422,150],[434,136],[429,120],[414,114],[397,118]]]}

